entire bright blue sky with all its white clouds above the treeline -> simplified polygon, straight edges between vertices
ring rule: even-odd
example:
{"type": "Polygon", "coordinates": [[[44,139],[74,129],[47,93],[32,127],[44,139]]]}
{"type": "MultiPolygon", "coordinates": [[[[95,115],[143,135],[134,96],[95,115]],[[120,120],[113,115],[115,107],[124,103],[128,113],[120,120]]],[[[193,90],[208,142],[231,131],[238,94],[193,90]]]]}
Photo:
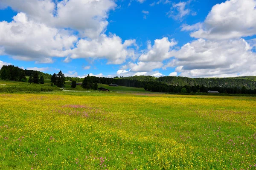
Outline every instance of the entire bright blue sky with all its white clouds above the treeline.
{"type": "Polygon", "coordinates": [[[0,67],[87,74],[256,75],[256,0],[1,0],[0,67]]]}

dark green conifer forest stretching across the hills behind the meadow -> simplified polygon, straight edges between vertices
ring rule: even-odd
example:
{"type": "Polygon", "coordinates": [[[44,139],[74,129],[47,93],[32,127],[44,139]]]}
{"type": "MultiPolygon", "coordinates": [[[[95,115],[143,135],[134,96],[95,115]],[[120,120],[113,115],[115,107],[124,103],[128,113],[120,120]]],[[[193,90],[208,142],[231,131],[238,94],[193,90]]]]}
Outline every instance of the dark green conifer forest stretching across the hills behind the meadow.
{"type": "MultiPolygon", "coordinates": [[[[26,81],[26,77],[33,77],[38,73],[38,77],[52,79],[55,76],[40,71],[23,70],[14,65],[4,65],[0,70],[0,78],[3,80],[26,81]]],[[[62,73],[61,73],[62,74],[62,73]]],[[[57,77],[56,77],[57,78],[57,77]]],[[[61,78],[62,79],[62,78],[61,78]]],[[[165,93],[207,93],[207,91],[218,91],[227,94],[256,94],[256,81],[249,79],[235,78],[189,78],[189,77],[153,77],[153,76],[133,76],[133,77],[95,77],[85,78],[64,77],[65,81],[84,82],[84,88],[96,89],[96,84],[117,84],[127,87],[144,88],[146,91],[165,93]],[[88,82],[88,83],[87,83],[88,82]],[[94,87],[94,83],[95,87],[94,87]],[[183,89],[185,88],[186,91],[183,89]],[[183,91],[182,91],[183,89],[183,91]]],[[[61,82],[63,82],[62,80],[61,82]]],[[[54,83],[55,84],[55,83],[54,83]]],[[[59,85],[63,87],[62,83],[59,85]]]]}

